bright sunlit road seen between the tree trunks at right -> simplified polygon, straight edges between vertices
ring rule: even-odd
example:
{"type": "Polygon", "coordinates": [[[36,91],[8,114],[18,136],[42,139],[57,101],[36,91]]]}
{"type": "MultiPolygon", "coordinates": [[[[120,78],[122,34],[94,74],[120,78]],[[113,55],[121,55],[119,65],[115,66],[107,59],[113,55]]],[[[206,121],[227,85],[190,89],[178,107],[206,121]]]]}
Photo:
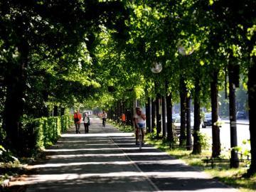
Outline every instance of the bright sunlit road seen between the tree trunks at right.
{"type": "MultiPolygon", "coordinates": [[[[223,120],[223,125],[220,127],[220,142],[221,147],[225,149],[230,149],[230,124],[229,120],[223,120]]],[[[201,132],[206,133],[209,137],[212,137],[212,129],[211,127],[202,128],[201,132]]],[[[238,146],[244,146],[247,149],[250,149],[250,145],[242,144],[242,141],[250,139],[249,132],[249,122],[248,120],[238,120],[237,124],[237,132],[238,132],[238,146]]]]}

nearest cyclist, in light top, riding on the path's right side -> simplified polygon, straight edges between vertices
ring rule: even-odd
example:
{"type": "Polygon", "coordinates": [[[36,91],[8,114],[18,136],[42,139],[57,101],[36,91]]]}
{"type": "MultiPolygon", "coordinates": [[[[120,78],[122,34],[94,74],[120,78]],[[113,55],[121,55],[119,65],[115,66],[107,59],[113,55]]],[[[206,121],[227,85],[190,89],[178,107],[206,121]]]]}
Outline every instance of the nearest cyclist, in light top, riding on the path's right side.
{"type": "Polygon", "coordinates": [[[146,115],[142,113],[142,109],[140,107],[136,107],[136,113],[134,114],[134,125],[136,129],[136,143],[139,144],[139,129],[142,129],[142,144],[144,144],[144,132],[145,132],[145,119],[146,115]]]}

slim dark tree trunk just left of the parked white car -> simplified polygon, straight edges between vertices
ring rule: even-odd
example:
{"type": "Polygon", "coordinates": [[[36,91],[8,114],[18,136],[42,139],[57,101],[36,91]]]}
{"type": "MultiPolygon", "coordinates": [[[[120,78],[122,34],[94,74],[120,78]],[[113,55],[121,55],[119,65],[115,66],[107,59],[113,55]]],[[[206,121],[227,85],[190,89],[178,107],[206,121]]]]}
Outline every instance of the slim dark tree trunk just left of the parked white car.
{"type": "Polygon", "coordinates": [[[172,129],[172,103],[171,92],[166,96],[166,111],[167,111],[167,140],[174,142],[174,132],[172,129]]]}

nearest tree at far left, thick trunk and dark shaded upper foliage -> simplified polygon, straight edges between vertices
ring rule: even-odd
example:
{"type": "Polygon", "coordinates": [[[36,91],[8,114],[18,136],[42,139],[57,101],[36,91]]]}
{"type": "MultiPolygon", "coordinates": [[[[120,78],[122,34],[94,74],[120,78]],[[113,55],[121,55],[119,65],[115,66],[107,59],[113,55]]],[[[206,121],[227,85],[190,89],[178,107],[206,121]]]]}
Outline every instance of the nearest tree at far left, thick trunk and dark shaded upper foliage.
{"type": "MultiPolygon", "coordinates": [[[[56,57],[66,61],[67,54],[77,53],[78,46],[93,26],[103,23],[114,28],[116,23],[122,22],[123,16],[120,13],[124,7],[119,2],[3,1],[0,9],[1,49],[6,50],[5,59],[1,60],[4,64],[1,76],[4,77],[6,87],[3,127],[6,131],[6,145],[18,151],[21,146],[18,129],[27,100],[29,68],[41,64],[34,63],[35,54],[41,54],[41,48],[45,48],[46,52],[40,55],[42,60],[56,57]],[[97,12],[92,14],[92,10],[97,12]]],[[[80,65],[76,62],[69,64],[71,65],[63,65],[59,61],[58,65],[52,67],[53,70],[66,68],[69,71],[80,65]]],[[[61,73],[65,73],[65,70],[61,73]]],[[[67,76],[63,79],[70,80],[71,75],[67,76]]]]}

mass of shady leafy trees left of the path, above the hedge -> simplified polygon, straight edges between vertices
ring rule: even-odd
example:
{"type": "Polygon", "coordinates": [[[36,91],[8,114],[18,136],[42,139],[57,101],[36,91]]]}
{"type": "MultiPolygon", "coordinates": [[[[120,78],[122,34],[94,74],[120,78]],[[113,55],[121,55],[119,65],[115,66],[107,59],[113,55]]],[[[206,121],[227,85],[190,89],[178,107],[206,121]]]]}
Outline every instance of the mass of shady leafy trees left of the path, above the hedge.
{"type": "Polygon", "coordinates": [[[57,115],[98,92],[96,36],[102,26],[118,33],[123,14],[119,1],[0,2],[0,144],[22,149],[24,118],[57,115]]]}

